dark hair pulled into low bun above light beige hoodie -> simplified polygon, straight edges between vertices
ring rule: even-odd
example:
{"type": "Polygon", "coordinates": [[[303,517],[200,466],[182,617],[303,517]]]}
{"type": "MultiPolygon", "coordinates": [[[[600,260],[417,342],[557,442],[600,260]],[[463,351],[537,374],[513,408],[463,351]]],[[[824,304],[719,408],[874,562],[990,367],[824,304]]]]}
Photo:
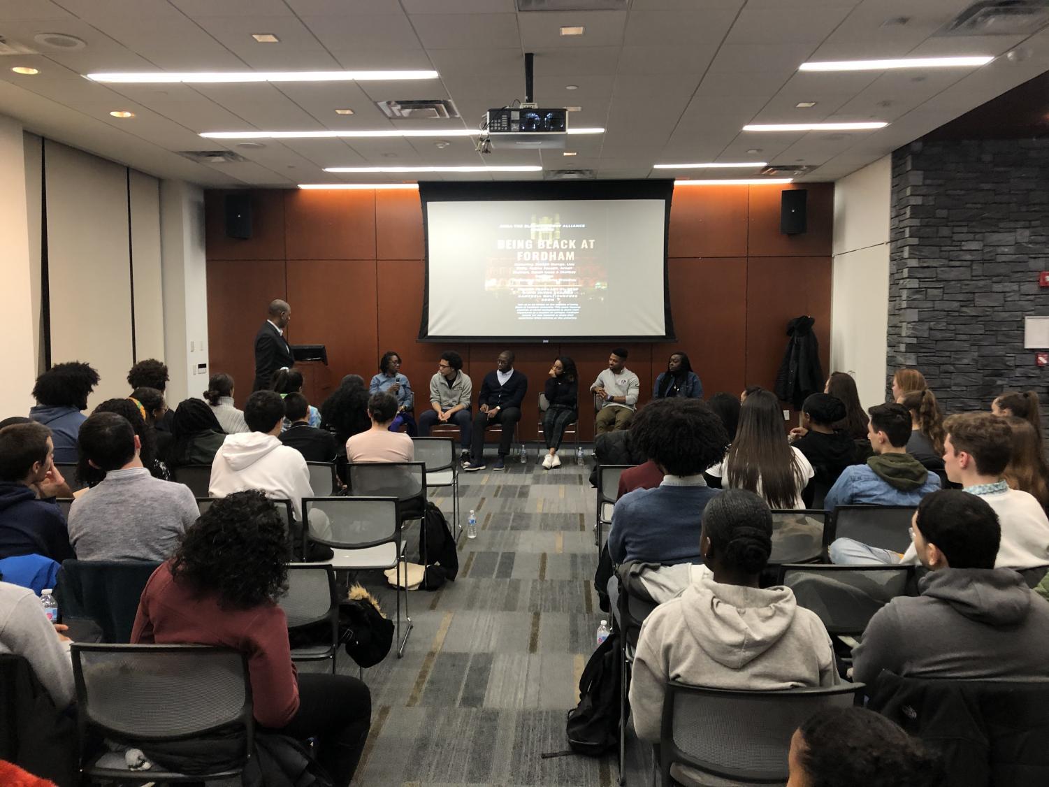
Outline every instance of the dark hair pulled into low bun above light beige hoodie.
{"type": "Polygon", "coordinates": [[[772,512],[758,495],[726,489],[703,509],[702,538],[710,541],[704,555],[722,568],[747,576],[762,573],[772,554],[772,512]]]}

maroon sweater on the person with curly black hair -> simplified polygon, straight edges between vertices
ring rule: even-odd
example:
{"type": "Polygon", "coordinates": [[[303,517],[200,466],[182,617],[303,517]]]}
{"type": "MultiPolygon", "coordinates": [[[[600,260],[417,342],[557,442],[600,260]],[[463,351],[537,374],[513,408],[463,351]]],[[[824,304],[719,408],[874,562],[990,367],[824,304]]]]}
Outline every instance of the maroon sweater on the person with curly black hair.
{"type": "Polygon", "coordinates": [[[299,682],[287,643],[287,619],[275,603],[222,609],[214,594],[176,581],[164,563],[146,583],[131,641],[232,647],[248,656],[254,716],[263,727],[286,725],[299,709],[299,682]]]}

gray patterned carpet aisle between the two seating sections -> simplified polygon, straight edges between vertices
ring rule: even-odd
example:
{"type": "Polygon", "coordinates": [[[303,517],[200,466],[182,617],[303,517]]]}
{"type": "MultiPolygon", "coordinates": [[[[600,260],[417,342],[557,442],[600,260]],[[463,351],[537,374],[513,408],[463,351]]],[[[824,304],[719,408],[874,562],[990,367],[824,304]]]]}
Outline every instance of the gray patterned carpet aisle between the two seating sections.
{"type": "MultiPolygon", "coordinates": [[[[404,658],[391,652],[364,673],[372,721],[356,785],[618,783],[614,752],[541,757],[568,749],[565,712],[607,617],[593,592],[588,471],[572,460],[544,471],[533,447],[528,464],[461,473],[463,524],[474,509],[477,538],[463,534],[454,583],[410,594],[404,658]]],[[[441,492],[432,499],[451,518],[441,492]]],[[[381,598],[392,616],[391,592],[381,598]]],[[[344,654],[339,669],[357,674],[344,654]]]]}

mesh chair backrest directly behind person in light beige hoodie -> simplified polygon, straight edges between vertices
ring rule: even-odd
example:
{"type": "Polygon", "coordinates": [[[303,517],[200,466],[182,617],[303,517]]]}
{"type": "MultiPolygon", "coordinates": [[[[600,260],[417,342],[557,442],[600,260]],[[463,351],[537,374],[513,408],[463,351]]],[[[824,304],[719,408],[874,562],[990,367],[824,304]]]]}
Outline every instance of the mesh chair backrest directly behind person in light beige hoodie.
{"type": "Polygon", "coordinates": [[[688,686],[670,681],[660,741],[663,784],[681,763],[723,779],[783,784],[794,730],[817,710],[849,707],[862,683],[782,692],[688,686]]]}

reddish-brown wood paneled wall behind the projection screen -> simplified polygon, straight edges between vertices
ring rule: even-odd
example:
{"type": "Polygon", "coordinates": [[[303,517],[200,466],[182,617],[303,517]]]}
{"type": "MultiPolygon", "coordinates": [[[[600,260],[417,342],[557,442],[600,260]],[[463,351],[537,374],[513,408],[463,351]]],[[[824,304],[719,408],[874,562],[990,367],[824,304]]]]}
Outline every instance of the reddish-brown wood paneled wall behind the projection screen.
{"type": "MultiPolygon", "coordinates": [[[[800,188],[800,187],[799,187],[800,188]]],[[[787,346],[787,322],[816,318],[820,359],[829,362],[833,184],[805,184],[809,231],[779,233],[778,186],[683,186],[670,213],[670,300],[678,341],[636,342],[627,366],[642,401],[675,350],[688,353],[705,397],[744,386],[771,387],[787,346]]],[[[254,376],[253,340],[273,298],[292,304],[293,343],[323,343],[335,382],[369,379],[387,349],[422,391],[446,347],[416,340],[423,307],[423,217],[415,191],[262,190],[253,193],[254,234],[227,238],[226,192],[207,194],[208,327],[213,371],[238,381],[242,403],[254,376]]],[[[464,305],[464,307],[467,307],[464,305]]],[[[536,437],[537,399],[556,355],[575,359],[581,380],[582,437],[593,437],[585,388],[606,366],[612,342],[512,344],[529,377],[521,421],[536,437]]],[[[475,389],[504,345],[447,347],[462,354],[475,389]]]]}

